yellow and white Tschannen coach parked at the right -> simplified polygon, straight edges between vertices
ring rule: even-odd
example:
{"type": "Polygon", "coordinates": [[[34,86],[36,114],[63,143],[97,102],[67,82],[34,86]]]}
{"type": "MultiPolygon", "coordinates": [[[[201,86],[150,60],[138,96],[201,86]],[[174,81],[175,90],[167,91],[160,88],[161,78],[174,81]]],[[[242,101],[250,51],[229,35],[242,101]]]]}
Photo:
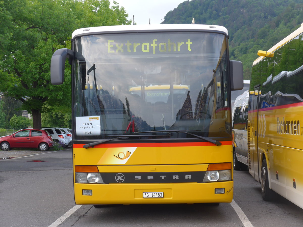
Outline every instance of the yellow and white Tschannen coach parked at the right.
{"type": "Polygon", "coordinates": [[[275,191],[303,208],[303,26],[252,67],[248,110],[249,172],[264,200],[275,191]]]}

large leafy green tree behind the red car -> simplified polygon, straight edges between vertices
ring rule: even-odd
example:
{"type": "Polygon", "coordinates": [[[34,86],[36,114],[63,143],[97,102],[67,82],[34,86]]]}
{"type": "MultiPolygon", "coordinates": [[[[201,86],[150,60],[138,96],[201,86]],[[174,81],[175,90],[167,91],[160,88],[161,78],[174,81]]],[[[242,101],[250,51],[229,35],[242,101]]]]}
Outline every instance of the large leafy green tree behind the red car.
{"type": "Polygon", "coordinates": [[[41,128],[43,106],[71,111],[71,78],[50,83],[50,59],[71,48],[77,28],[131,24],[123,7],[108,0],[0,0],[0,91],[22,102],[41,128]]]}

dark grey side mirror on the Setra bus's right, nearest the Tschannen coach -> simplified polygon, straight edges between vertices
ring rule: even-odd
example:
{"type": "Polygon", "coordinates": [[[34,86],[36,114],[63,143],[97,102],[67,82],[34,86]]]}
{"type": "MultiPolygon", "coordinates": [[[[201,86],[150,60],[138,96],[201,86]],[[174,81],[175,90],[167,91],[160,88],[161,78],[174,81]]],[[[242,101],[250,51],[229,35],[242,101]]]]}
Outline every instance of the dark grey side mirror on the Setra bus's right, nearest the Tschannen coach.
{"type": "Polygon", "coordinates": [[[243,65],[241,61],[230,62],[231,90],[243,89],[243,65]]]}

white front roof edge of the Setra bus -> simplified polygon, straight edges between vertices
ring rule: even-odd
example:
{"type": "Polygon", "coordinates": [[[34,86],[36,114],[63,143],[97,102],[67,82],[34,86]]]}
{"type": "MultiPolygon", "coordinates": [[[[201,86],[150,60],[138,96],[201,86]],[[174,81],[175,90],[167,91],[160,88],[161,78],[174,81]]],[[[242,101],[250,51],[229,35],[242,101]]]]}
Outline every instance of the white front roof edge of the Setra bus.
{"type": "Polygon", "coordinates": [[[197,24],[165,24],[165,25],[114,25],[91,28],[80,28],[72,33],[72,38],[83,35],[100,33],[121,33],[132,31],[208,31],[228,35],[225,27],[219,25],[197,25],[197,24]]]}

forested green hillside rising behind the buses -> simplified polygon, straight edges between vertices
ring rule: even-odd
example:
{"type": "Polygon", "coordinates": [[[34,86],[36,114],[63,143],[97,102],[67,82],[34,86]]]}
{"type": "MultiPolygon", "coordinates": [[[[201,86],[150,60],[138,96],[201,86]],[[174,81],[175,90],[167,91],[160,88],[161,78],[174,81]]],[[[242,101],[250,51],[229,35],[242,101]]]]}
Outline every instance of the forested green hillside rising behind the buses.
{"type": "Polygon", "coordinates": [[[249,79],[258,50],[268,50],[303,23],[302,0],[192,0],[168,12],[164,24],[222,25],[230,58],[243,62],[249,79]]]}

